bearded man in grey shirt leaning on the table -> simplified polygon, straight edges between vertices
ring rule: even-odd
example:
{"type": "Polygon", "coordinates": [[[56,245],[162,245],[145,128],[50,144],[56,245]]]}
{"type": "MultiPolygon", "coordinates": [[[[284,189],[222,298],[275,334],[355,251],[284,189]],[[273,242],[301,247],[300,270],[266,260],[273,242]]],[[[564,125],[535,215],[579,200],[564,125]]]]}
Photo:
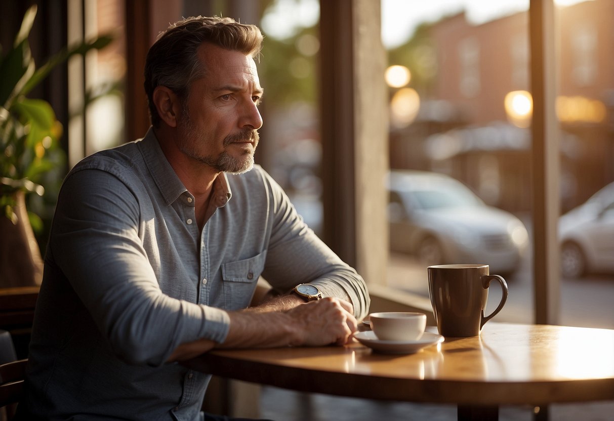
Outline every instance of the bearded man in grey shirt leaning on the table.
{"type": "Polygon", "coordinates": [[[229,18],[172,25],[147,55],[152,128],[64,180],[24,419],[201,420],[210,376],[177,361],[357,330],[364,281],[254,166],[261,44],[229,18]],[[283,295],[246,309],[260,275],[283,295]]]}

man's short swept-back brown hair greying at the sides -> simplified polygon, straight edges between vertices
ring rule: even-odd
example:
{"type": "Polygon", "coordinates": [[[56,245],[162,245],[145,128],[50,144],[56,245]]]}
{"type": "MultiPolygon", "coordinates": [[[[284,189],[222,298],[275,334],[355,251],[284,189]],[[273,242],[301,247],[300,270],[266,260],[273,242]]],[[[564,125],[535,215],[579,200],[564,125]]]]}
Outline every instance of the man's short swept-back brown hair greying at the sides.
{"type": "Polygon", "coordinates": [[[256,58],[262,39],[257,26],[238,23],[232,18],[190,17],[169,26],[149,48],[145,62],[144,85],[152,125],[158,127],[161,121],[153,103],[156,87],[168,87],[185,101],[192,82],[203,77],[206,69],[196,54],[203,42],[256,58]]]}

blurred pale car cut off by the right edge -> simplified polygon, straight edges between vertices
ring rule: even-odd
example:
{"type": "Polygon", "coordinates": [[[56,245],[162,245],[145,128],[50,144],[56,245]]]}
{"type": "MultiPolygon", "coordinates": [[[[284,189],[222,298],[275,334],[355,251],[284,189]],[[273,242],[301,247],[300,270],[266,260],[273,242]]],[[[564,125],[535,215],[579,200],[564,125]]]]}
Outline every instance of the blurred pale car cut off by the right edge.
{"type": "Polygon", "coordinates": [[[561,275],[614,273],[614,183],[559,218],[561,275]]]}

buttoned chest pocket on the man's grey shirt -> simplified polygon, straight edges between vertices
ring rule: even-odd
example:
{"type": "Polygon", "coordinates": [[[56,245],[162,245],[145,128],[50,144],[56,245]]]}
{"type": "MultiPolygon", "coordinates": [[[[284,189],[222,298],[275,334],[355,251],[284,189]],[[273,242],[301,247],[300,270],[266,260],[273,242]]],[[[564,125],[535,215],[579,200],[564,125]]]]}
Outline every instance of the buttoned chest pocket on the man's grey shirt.
{"type": "Polygon", "coordinates": [[[238,310],[249,306],[265,260],[266,250],[249,259],[223,263],[224,309],[238,310]]]}

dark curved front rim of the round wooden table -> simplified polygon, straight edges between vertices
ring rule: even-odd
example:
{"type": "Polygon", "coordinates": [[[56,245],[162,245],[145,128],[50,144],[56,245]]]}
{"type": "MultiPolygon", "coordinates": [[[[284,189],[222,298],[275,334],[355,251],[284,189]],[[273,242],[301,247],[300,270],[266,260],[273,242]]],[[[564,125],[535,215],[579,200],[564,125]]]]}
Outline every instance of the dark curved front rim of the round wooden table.
{"type": "Polygon", "coordinates": [[[273,363],[245,360],[223,351],[212,351],[182,361],[182,365],[216,376],[243,380],[261,385],[281,387],[298,392],[324,393],[383,401],[406,401],[419,403],[501,405],[501,404],[546,404],[579,403],[614,400],[614,378],[544,380],[531,383],[532,399],[524,399],[527,384],[513,381],[467,381],[410,379],[371,376],[360,373],[321,374],[310,369],[279,366],[273,363]],[[335,379],[338,378],[339,382],[335,379]],[[264,379],[264,380],[263,380],[264,379]],[[390,387],[374,387],[385,382],[390,387]],[[336,384],[343,384],[340,388],[336,384]],[[494,386],[505,385],[500,391],[494,386]],[[390,390],[394,390],[390,393],[390,390]],[[458,391],[462,390],[462,396],[458,391]],[[555,393],[556,392],[556,393],[555,393]],[[457,395],[451,399],[448,396],[457,395]],[[570,397],[571,396],[571,397],[570,397]]]}

